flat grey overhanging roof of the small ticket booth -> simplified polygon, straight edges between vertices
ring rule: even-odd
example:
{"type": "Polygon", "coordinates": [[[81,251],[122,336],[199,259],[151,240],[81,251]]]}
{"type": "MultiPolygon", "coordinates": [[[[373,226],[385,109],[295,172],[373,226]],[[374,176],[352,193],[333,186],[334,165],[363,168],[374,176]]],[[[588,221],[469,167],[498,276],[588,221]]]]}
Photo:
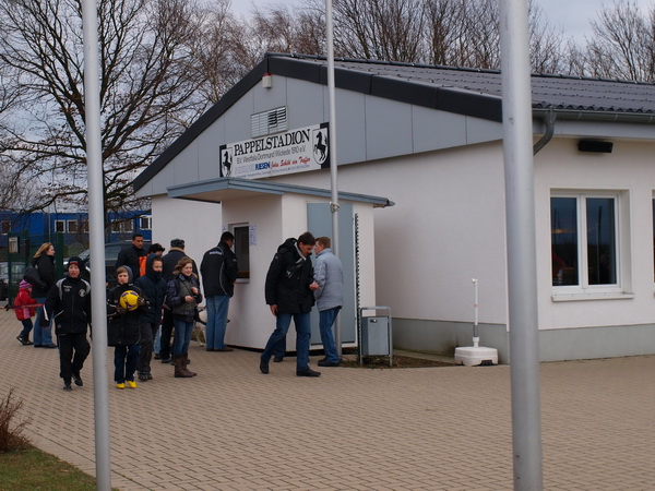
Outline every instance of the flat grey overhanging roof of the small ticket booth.
{"type": "MultiPolygon", "coordinates": [[[[171,185],[170,188],[167,188],[167,191],[168,197],[202,201],[207,203],[222,203],[231,200],[243,200],[262,194],[283,195],[287,193],[294,193],[315,197],[332,197],[332,192],[326,189],[238,178],[219,178],[189,184],[171,185]]],[[[386,197],[343,191],[338,192],[338,200],[356,203],[370,203],[373,207],[386,207],[394,205],[394,202],[386,197]]]]}

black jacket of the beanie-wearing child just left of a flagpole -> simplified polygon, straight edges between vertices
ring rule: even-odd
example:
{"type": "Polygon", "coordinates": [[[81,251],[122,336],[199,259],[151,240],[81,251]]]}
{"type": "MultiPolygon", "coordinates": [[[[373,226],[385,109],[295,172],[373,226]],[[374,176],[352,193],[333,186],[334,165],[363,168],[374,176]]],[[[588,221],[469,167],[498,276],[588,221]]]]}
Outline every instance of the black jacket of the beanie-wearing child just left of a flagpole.
{"type": "Polygon", "coordinates": [[[45,309],[48,319],[55,320],[56,334],[86,333],[91,324],[91,285],[66,276],[48,291],[45,309]]]}

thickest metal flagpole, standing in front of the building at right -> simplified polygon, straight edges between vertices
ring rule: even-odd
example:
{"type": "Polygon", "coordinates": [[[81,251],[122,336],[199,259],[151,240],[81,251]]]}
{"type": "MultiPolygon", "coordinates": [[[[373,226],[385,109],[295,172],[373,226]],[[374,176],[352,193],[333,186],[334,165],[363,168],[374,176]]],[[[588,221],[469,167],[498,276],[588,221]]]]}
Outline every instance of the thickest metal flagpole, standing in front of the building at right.
{"type": "Polygon", "coordinates": [[[500,1],[514,489],[539,491],[541,409],[527,0],[500,1]]]}

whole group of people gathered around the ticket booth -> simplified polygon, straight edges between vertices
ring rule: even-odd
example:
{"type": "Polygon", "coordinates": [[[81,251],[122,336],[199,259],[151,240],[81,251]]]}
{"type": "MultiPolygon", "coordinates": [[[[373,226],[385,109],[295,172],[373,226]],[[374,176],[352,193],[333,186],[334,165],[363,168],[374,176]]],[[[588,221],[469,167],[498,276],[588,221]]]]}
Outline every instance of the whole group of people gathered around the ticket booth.
{"type": "MultiPolygon", "coordinates": [[[[229,299],[234,296],[239,271],[233,252],[234,242],[233,233],[223,232],[218,244],[205,252],[200,266],[207,311],[207,351],[233,351],[225,344],[225,333],[229,299]]],[[[71,391],[72,383],[83,385],[80,374],[91,351],[86,338],[92,320],[91,285],[82,278],[84,263],[78,256],[70,258],[64,277],[57,280],[55,248],[47,242],[36,252],[33,266],[43,282],[40,285],[31,285],[26,280],[20,284],[14,309],[23,328],[17,339],[23,345],[32,345],[29,333],[34,330],[35,347],[59,347],[63,388],[71,391]],[[34,315],[36,325],[32,323],[34,315]],[[52,343],[51,325],[57,345],[52,343]]],[[[272,357],[274,361],[283,360],[286,335],[294,320],[296,373],[298,376],[320,375],[309,368],[309,315],[314,303],[319,308],[325,350],[325,358],[319,366],[337,367],[341,363],[332,325],[343,306],[343,272],[341,261],[330,249],[330,238],[314,239],[310,232],[305,232],[279,246],[266,275],[265,299],[276,318],[276,326],[261,356],[262,373],[269,373],[272,357]],[[310,260],[314,248],[315,268],[310,260]]],[[[189,345],[198,306],[202,301],[199,271],[184,253],[183,240],[171,240],[169,252],[164,254],[160,244],[153,244],[145,251],[143,237],[140,233],[132,237],[131,246],[120,252],[116,262],[116,286],[107,289],[107,342],[115,347],[117,388],[135,388],[136,373],[142,382],[152,380],[153,354],[163,363],[172,362],[174,376],[196,375],[188,368],[189,345]],[[127,295],[136,298],[135,304],[128,307],[121,301],[127,295]]]]}

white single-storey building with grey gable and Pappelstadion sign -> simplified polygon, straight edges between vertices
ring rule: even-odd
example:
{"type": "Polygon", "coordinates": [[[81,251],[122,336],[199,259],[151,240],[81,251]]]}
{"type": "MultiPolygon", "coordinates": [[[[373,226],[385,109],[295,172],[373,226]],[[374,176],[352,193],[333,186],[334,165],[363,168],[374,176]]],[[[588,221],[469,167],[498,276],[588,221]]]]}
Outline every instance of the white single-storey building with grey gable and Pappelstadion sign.
{"type": "MultiPolygon", "coordinates": [[[[395,348],[452,355],[471,345],[477,278],[480,344],[507,362],[500,73],[335,65],[344,342],[357,306],[390,306],[395,348]]],[[[540,359],[653,354],[655,86],[532,86],[540,359]]],[[[263,348],[273,330],[263,280],[276,247],[331,235],[327,122],[325,60],[270,55],[134,181],[153,200],[153,241],[182,237],[198,261],[237,231],[249,278],[229,344],[263,348]]]]}

